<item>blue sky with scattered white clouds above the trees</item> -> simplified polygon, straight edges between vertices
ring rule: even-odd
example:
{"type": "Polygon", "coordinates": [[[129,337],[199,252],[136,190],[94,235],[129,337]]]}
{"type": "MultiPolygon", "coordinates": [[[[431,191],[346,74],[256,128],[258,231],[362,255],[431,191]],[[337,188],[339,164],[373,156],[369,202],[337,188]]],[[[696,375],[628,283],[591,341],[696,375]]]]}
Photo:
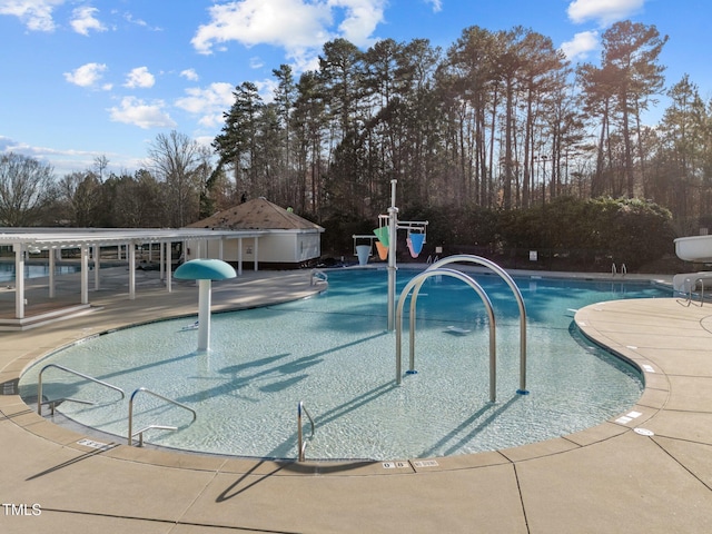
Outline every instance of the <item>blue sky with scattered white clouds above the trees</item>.
{"type": "Polygon", "coordinates": [[[337,37],[446,49],[471,26],[523,26],[574,63],[597,62],[601,34],[623,19],[670,37],[668,86],[688,73],[712,97],[709,0],[0,0],[0,152],[58,176],[100,156],[132,172],[160,132],[209,145],[236,85],[269,98],[273,69],[289,63],[298,76],[337,37]]]}

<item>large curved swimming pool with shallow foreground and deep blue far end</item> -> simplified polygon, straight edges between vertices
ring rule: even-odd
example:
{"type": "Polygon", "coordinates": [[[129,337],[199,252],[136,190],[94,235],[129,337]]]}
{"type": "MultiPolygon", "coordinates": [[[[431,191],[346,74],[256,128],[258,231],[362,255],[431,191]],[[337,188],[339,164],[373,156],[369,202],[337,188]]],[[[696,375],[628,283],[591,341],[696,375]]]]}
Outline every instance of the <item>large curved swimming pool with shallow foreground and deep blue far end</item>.
{"type": "MultiPolygon", "coordinates": [[[[414,275],[412,273],[411,275],[414,275]]],[[[609,419],[640,397],[640,375],[583,339],[571,308],[620,298],[668,297],[650,284],[520,278],[528,315],[531,394],[517,395],[518,310],[496,276],[476,276],[497,317],[497,402],[488,403],[486,312],[472,289],[428,279],[418,297],[417,375],[396,386],[395,334],[386,332],[386,273],[329,273],[318,297],[214,315],[211,350],[196,353],[194,319],[174,319],[87,339],[30,368],[21,395],[36,395],[37,373],[58,363],[128,394],[147,387],[197,411],[137,397],[136,427],[147,441],[205,453],[296,457],[299,400],[316,419],[309,458],[396,459],[505,448],[570,434],[609,419]],[[448,326],[471,330],[456,336],[448,326]]],[[[408,280],[398,271],[398,285],[408,280]]],[[[406,322],[407,324],[407,322],[406,322]]],[[[407,348],[407,343],[406,343],[407,348]]],[[[127,402],[116,393],[48,369],[44,393],[101,399],[63,403],[68,417],[126,439],[127,402]]],[[[125,443],[125,442],[123,442],[125,443]]]]}

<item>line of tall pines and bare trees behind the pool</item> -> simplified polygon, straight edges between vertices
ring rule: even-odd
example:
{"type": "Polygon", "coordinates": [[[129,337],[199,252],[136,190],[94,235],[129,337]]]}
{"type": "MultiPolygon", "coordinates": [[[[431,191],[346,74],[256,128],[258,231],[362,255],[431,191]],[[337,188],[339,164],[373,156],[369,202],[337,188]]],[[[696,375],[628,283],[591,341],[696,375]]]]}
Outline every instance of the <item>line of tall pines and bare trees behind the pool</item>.
{"type": "Polygon", "coordinates": [[[572,66],[522,27],[469,27],[445,50],[335,39],[316,70],[296,79],[287,65],[275,69],[271,98],[237,85],[212,150],[171,131],[157,136],[145,169],[105,177],[97,158],[53,181],[37,161],[2,156],[0,224],[182,226],[264,196],[327,228],[368,226],[396,179],[405,214],[639,198],[668,208],[676,234],[696,234],[712,224],[712,102],[688,76],[665,88],[666,41],[654,26],[617,22],[596,65],[572,66]],[[663,95],[671,103],[646,125],[663,95]],[[34,194],[43,211],[18,206],[31,195],[8,177],[22,165],[51,182],[34,194]]]}

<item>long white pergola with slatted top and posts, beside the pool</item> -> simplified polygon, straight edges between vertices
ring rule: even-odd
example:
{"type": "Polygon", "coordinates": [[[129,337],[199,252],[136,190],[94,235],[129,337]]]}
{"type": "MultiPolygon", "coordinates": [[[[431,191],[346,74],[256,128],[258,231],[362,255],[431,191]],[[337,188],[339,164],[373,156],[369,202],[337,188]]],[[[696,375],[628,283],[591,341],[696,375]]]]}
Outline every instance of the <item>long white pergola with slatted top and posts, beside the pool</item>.
{"type": "MultiPolygon", "coordinates": [[[[171,245],[185,243],[191,239],[219,240],[219,256],[221,258],[222,243],[225,239],[238,240],[238,274],[243,273],[243,238],[257,239],[268,234],[265,230],[212,230],[198,228],[181,229],[135,229],[135,228],[1,228],[0,246],[11,246],[14,251],[14,316],[16,319],[24,318],[24,264],[28,255],[49,250],[49,298],[55,297],[55,264],[62,249],[80,250],[81,273],[81,304],[89,305],[89,256],[93,257],[95,289],[99,289],[100,251],[101,247],[118,247],[119,254],[122,247],[127,250],[129,265],[129,298],[136,298],[136,248],[144,245],[160,245],[160,271],[165,277],[167,290],[171,291],[171,245]]],[[[197,251],[200,257],[200,251],[197,251]]],[[[255,270],[257,270],[257,256],[255,256],[255,270]]]]}

